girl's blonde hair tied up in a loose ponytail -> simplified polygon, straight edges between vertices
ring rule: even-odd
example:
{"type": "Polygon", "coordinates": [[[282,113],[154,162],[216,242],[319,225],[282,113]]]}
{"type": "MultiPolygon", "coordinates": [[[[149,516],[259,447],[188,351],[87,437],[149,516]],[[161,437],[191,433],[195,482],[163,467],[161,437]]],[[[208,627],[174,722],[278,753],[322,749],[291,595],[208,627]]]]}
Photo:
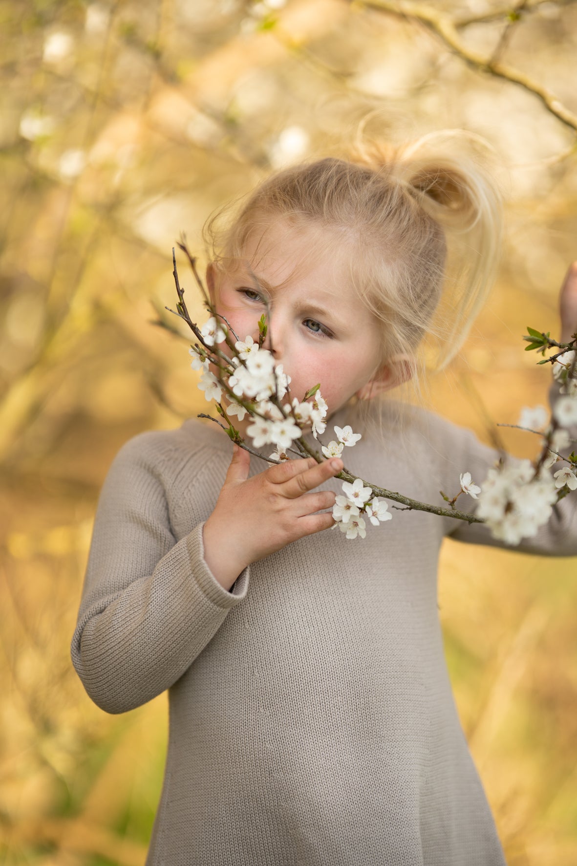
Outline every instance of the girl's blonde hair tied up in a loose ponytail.
{"type": "Polygon", "coordinates": [[[385,423],[402,431],[412,414],[406,387],[423,402],[427,360],[431,372],[444,370],[492,288],[502,236],[496,168],[491,145],[464,130],[400,145],[357,134],[333,155],[264,178],[222,228],[217,222],[235,203],[217,209],[204,242],[217,268],[234,268],[249,237],[282,218],[315,232],[312,256],[345,253],[351,287],[382,328],[375,370],[403,354],[412,373],[397,399],[386,391],[348,401],[346,423],[377,430],[385,443],[385,423]]]}

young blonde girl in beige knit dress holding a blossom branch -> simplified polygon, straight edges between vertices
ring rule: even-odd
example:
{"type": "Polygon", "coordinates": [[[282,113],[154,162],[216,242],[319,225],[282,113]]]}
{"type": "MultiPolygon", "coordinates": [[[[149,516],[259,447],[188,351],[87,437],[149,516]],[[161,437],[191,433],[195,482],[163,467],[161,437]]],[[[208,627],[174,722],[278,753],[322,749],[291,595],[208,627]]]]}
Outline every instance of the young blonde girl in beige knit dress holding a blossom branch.
{"type": "MultiPolygon", "coordinates": [[[[277,172],[224,229],[206,280],[241,341],[257,343],[267,298],[263,348],[290,376],[291,399],[320,383],[327,432],[305,442],[319,450],[334,426],[361,428],[343,455],[354,475],[444,505],[439,490],[457,493],[464,472],[480,484],[498,452],[384,395],[418,385],[425,339],[441,347],[438,368],[456,354],[501,223],[477,156],[455,156],[449,136],[431,153],[436,140],[277,172]]],[[[565,341],[576,284],[570,269],[565,341]]],[[[559,393],[553,381],[551,407],[559,393]]],[[[246,436],[250,417],[232,421],[246,436]]],[[[567,456],[568,437],[558,444],[567,456]]],[[[146,863],[504,863],[451,693],[437,567],[445,536],[506,544],[485,524],[392,502],[392,519],[364,539],[324,532],[343,460],[273,465],[271,451],[233,449],[217,423],[193,417],[127,442],[101,490],[72,658],[108,713],[169,690],[146,863]]],[[[575,501],[513,549],[577,555],[575,501]]],[[[475,501],[463,494],[458,507],[475,501]]]]}

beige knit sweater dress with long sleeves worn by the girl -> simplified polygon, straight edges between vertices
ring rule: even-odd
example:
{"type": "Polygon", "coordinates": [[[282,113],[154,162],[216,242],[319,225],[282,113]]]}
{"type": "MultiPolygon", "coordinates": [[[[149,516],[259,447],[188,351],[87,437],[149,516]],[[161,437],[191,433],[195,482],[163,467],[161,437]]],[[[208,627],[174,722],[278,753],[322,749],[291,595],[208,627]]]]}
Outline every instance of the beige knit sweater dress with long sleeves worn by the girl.
{"type": "MultiPolygon", "coordinates": [[[[550,404],[558,397],[553,382],[550,404]]],[[[345,411],[328,419],[324,443],[345,411]]],[[[411,412],[407,449],[363,437],[345,449],[347,468],[443,505],[438,491],[457,493],[459,473],[480,485],[498,452],[411,412]]],[[[146,866],[502,866],[444,659],[439,549],[451,536],[577,556],[577,494],[514,547],[482,524],[388,501],[392,520],[367,520],[365,539],[338,527],[308,535],[226,591],[204,562],[203,526],[231,455],[224,431],[194,417],[134,436],[100,492],[72,659],[107,713],[168,689],[146,866]]],[[[251,456],[250,476],[269,465],[251,456]]]]}

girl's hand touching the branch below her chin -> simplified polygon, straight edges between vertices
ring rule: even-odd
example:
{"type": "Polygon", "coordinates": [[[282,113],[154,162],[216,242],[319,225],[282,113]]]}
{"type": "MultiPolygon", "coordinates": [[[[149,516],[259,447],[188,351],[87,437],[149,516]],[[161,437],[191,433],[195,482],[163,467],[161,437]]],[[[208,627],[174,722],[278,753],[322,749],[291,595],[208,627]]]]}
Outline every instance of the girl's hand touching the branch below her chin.
{"type": "Polygon", "coordinates": [[[233,451],[217,504],[203,529],[204,560],[225,589],[251,562],[334,526],[332,513],[314,514],[334,506],[334,491],[310,492],[339,474],[343,462],[338,460],[333,468],[334,459],[288,460],[249,478],[249,452],[233,451]]]}

